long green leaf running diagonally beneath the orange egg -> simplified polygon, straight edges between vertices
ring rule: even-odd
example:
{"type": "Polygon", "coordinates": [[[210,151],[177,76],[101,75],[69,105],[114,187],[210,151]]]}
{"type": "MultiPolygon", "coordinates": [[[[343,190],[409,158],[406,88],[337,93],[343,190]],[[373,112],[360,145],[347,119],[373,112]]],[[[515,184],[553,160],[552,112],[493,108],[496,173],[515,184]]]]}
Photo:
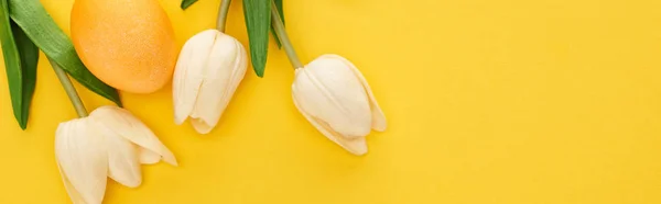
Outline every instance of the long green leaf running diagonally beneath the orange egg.
{"type": "Polygon", "coordinates": [[[121,106],[119,93],[96,78],[80,61],[72,41],[39,0],[9,0],[11,19],[46,56],[80,84],[121,106]]]}

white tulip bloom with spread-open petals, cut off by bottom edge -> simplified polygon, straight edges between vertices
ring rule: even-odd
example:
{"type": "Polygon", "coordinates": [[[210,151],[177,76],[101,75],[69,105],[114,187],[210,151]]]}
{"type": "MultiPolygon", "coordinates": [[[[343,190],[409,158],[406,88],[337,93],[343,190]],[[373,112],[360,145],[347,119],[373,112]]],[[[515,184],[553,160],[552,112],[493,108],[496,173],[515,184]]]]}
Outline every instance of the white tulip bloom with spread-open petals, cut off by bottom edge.
{"type": "Polygon", "coordinates": [[[87,204],[101,203],[108,177],[137,188],[142,183],[141,163],[163,160],[177,166],[149,127],[117,106],[101,106],[87,117],[61,123],[55,156],[72,201],[87,204]]]}

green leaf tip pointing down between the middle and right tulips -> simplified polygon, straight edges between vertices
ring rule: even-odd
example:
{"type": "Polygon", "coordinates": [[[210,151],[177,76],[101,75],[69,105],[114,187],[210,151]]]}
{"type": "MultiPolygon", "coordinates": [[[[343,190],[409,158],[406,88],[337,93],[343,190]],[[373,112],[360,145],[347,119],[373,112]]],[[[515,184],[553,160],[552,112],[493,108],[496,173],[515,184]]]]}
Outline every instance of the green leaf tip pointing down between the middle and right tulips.
{"type": "Polygon", "coordinates": [[[267,67],[267,55],[269,54],[271,1],[243,0],[243,15],[248,29],[252,68],[258,77],[263,77],[267,67]]]}

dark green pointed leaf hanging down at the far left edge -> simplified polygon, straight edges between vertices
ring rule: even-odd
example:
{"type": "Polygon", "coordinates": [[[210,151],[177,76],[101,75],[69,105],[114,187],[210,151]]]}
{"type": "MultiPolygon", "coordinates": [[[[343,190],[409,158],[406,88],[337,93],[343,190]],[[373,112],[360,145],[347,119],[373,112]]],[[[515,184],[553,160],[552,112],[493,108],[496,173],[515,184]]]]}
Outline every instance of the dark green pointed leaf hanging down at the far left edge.
{"type": "Polygon", "coordinates": [[[8,1],[0,0],[0,41],[12,109],[19,125],[25,129],[36,82],[39,48],[10,20],[8,1]]]}

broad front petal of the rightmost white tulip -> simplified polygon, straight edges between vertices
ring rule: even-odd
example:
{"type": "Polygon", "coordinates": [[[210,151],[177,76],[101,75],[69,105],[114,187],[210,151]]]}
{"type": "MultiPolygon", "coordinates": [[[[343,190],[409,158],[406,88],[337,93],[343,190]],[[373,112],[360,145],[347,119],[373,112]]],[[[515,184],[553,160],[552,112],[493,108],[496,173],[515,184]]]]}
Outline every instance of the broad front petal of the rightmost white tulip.
{"type": "Polygon", "coordinates": [[[297,97],[301,110],[325,121],[347,138],[364,137],[371,132],[367,93],[343,61],[317,58],[296,69],[292,94],[297,97]]]}

